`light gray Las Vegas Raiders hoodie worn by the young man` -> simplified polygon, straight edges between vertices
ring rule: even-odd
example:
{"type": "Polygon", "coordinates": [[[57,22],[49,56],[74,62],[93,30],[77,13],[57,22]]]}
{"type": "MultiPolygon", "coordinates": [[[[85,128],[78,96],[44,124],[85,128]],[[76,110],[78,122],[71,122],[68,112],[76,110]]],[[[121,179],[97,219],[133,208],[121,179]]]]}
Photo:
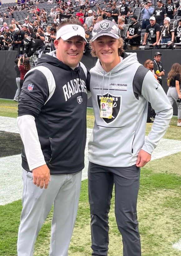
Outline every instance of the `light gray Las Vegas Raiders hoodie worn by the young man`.
{"type": "Polygon", "coordinates": [[[173,115],[173,108],[154,74],[136,57],[127,56],[110,72],[98,59],[90,70],[95,123],[88,143],[88,159],[109,167],[129,167],[136,164],[142,148],[152,154],[164,136],[173,115]],[[100,118],[100,98],[113,98],[112,118],[100,118]],[[145,139],[148,101],[156,118],[145,139]]]}

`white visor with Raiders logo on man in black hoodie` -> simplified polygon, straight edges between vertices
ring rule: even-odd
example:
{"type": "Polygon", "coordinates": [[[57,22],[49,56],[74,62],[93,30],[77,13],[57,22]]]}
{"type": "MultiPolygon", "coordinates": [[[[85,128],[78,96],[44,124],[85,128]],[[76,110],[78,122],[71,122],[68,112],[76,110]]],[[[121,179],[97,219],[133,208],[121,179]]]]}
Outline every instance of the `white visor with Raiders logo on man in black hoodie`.
{"type": "Polygon", "coordinates": [[[71,37],[74,37],[74,36],[82,37],[87,43],[87,40],[85,38],[84,28],[79,26],[79,25],[73,25],[73,24],[65,25],[65,26],[61,27],[57,31],[56,39],[59,39],[61,37],[63,40],[67,40],[67,39],[69,39],[71,37]]]}

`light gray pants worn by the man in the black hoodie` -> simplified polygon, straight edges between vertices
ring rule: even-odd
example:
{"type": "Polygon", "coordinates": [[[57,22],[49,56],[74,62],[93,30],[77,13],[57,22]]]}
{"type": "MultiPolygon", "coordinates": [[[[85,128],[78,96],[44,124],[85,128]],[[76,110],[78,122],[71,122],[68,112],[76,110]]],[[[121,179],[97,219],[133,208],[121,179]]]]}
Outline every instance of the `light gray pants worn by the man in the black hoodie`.
{"type": "Polygon", "coordinates": [[[54,205],[51,224],[50,256],[67,256],[77,216],[82,171],[50,175],[47,189],[33,184],[33,175],[23,170],[21,222],[18,256],[33,256],[36,237],[54,205]]]}

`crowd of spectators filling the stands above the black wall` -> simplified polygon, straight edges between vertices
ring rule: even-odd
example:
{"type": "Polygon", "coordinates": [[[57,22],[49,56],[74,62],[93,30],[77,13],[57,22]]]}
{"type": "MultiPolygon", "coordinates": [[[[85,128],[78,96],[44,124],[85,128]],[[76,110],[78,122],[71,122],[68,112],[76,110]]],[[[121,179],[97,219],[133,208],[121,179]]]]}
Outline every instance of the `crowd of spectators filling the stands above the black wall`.
{"type": "Polygon", "coordinates": [[[94,25],[105,19],[117,23],[121,37],[125,40],[125,47],[128,45],[132,50],[137,50],[141,42],[142,45],[150,43],[157,48],[160,44],[170,46],[173,43],[181,43],[181,0],[16,2],[16,5],[9,4],[7,8],[2,3],[0,5],[1,49],[12,50],[24,46],[27,48],[28,45],[32,48],[32,40],[36,43],[36,48],[43,45],[50,47],[56,38],[57,25],[62,19],[70,17],[85,24],[87,40],[91,39],[94,25]],[[17,13],[22,13],[22,19],[18,15],[17,20],[17,13]]]}

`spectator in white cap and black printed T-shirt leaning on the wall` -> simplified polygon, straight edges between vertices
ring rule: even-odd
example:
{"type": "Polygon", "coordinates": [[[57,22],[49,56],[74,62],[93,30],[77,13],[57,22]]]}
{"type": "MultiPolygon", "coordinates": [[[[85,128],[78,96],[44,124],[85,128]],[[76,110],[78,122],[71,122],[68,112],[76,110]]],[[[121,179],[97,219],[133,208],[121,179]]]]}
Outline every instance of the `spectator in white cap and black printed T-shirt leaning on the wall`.
{"type": "Polygon", "coordinates": [[[155,17],[153,16],[150,17],[150,25],[146,27],[143,45],[146,44],[148,33],[151,38],[150,43],[152,43],[152,45],[155,46],[160,38],[160,25],[156,23],[155,17]]]}

